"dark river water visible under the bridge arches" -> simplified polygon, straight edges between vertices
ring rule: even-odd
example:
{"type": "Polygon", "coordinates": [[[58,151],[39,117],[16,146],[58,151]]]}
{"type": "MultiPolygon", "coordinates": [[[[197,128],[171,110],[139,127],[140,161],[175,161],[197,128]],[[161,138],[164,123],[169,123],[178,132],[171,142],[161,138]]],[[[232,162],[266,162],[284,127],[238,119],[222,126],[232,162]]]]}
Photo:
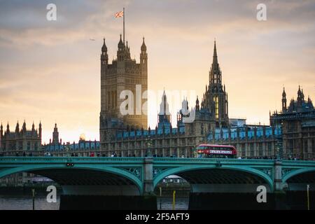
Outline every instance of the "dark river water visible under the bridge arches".
{"type": "MultiPolygon", "coordinates": [[[[175,200],[176,210],[188,209],[188,197],[178,197],[175,200]]],[[[45,195],[36,195],[35,209],[36,210],[58,210],[59,197],[57,202],[48,203],[45,195]]],[[[158,209],[172,208],[172,197],[158,198],[158,209]],[[161,203],[160,203],[161,202],[161,203]]],[[[0,195],[0,210],[31,210],[33,209],[33,200],[30,195],[0,195]]]]}

